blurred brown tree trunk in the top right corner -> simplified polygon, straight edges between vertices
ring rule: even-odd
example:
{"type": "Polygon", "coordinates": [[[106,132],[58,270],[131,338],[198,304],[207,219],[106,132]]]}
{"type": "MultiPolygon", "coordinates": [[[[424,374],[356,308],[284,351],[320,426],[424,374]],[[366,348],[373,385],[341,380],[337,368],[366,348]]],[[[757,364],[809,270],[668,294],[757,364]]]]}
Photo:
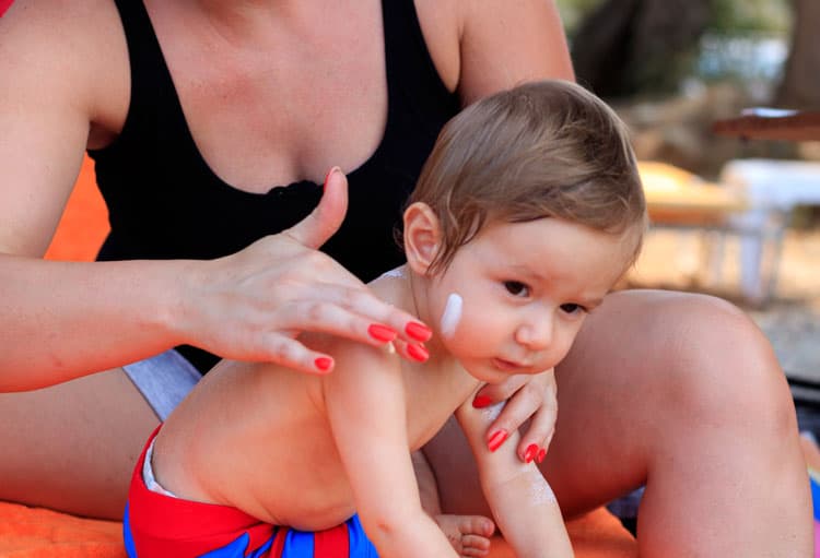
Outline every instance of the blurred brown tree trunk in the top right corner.
{"type": "Polygon", "coordinates": [[[820,107],[820,0],[795,0],[792,50],[776,104],[789,108],[820,107]]]}

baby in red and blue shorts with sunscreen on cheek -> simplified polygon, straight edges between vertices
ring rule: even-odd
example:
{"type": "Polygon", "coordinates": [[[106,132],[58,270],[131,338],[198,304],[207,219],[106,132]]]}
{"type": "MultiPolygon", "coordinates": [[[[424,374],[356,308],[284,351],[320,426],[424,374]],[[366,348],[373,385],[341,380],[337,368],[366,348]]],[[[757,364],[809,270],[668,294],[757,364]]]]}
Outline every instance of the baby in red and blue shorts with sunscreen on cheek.
{"type": "MultiPolygon", "coordinates": [[[[522,462],[516,432],[488,441],[492,417],[469,402],[485,382],[552,373],[645,222],[624,127],[590,93],[546,81],[469,106],[405,212],[407,264],[370,285],[434,324],[426,363],[319,334],[301,339],[335,356],[332,373],[222,361],[148,442],[129,556],[456,557],[411,461],[454,413],[516,555],[572,556],[543,452],[522,462]]],[[[491,533],[460,534],[460,553],[487,554],[491,533]]]]}

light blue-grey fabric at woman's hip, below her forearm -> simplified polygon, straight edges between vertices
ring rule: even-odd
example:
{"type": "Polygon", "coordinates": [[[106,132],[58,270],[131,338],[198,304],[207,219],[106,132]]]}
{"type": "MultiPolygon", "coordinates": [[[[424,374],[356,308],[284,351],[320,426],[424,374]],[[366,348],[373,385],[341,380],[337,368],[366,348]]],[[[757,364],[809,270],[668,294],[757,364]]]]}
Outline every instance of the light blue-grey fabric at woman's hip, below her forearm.
{"type": "Polygon", "coordinates": [[[202,379],[199,371],[173,348],[122,369],[160,420],[165,420],[202,379]]]}

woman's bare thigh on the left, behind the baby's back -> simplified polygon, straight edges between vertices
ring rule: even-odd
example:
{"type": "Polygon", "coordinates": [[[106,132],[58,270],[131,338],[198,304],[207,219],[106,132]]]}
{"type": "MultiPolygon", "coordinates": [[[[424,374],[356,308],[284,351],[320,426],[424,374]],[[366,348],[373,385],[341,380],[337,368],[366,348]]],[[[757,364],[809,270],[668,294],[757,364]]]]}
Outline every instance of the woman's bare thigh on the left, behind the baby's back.
{"type": "Polygon", "coordinates": [[[134,463],[157,424],[121,369],[0,394],[0,500],[122,519],[134,463]]]}

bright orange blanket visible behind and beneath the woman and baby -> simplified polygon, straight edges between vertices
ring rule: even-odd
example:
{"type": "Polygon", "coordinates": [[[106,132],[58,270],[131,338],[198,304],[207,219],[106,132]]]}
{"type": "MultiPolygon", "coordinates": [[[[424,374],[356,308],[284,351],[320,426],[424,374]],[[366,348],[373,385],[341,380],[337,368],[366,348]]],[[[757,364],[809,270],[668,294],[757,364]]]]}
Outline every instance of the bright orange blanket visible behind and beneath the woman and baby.
{"type": "MultiPolygon", "coordinates": [[[[86,158],[80,178],[46,253],[54,260],[90,261],[108,231],[105,204],[86,158]]],[[[569,523],[578,558],[632,558],[637,545],[620,522],[599,509],[569,523]]],[[[124,558],[121,525],[49,510],[0,502],[0,556],[12,558],[124,558]]],[[[512,558],[499,538],[492,558],[512,558]]]]}

